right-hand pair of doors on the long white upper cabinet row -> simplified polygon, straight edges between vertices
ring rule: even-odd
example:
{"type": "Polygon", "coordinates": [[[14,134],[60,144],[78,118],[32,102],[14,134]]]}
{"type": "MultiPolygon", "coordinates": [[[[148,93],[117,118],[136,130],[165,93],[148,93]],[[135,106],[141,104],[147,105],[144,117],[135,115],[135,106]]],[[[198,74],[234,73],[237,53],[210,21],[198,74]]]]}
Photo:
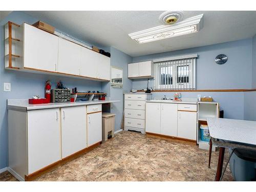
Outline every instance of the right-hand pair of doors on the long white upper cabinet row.
{"type": "Polygon", "coordinates": [[[110,57],[82,47],[81,75],[110,80],[110,57]]]}

